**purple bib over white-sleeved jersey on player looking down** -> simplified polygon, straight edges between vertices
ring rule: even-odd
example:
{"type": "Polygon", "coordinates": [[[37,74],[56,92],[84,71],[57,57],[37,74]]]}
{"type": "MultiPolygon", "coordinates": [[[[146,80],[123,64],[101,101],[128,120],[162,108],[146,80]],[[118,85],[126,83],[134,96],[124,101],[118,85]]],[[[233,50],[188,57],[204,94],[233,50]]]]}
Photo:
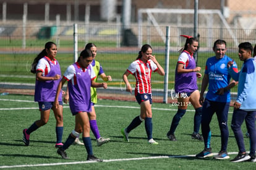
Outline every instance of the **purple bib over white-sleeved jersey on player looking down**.
{"type": "Polygon", "coordinates": [[[92,111],[90,87],[92,80],[95,79],[92,65],[83,69],[78,62],[75,62],[67,68],[63,77],[68,80],[71,113],[92,111]]]}

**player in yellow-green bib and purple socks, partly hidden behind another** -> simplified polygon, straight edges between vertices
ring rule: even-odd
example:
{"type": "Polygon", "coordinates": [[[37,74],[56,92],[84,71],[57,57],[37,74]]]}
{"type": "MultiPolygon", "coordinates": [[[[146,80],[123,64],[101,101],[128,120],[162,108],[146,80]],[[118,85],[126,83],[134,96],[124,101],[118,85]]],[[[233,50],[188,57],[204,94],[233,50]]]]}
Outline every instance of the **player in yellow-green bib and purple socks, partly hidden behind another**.
{"type": "MultiPolygon", "coordinates": [[[[112,81],[111,76],[110,75],[107,76],[105,74],[105,72],[103,71],[103,69],[100,65],[100,62],[95,60],[95,57],[97,54],[96,45],[94,45],[93,43],[88,43],[85,46],[85,49],[90,50],[93,54],[92,66],[93,66],[93,70],[96,75],[95,82],[97,82],[97,80],[98,80],[98,75],[100,75],[101,79],[104,80],[105,82],[112,81]]],[[[67,93],[67,95],[64,97],[64,102],[67,102],[68,98],[69,98],[69,96],[67,93]]],[[[101,137],[100,132],[98,130],[98,125],[96,122],[96,113],[95,113],[95,108],[94,108],[94,104],[97,103],[97,91],[96,91],[96,88],[94,88],[94,87],[91,87],[91,101],[92,101],[92,111],[88,113],[88,116],[90,119],[90,128],[96,138],[97,146],[100,147],[104,143],[108,143],[110,141],[110,139],[101,137]]],[[[82,129],[80,129],[79,133],[81,133],[81,132],[82,132],[82,129]]],[[[74,144],[78,144],[78,145],[82,144],[83,145],[83,143],[79,141],[79,138],[75,139],[74,144]]]]}

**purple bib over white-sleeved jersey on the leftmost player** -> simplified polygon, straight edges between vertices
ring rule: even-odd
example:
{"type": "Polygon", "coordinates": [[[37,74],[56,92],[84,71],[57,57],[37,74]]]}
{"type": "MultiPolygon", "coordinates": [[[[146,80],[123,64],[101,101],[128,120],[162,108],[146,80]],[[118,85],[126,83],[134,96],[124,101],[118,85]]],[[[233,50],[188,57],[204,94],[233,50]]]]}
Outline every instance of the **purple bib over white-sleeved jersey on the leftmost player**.
{"type": "MultiPolygon", "coordinates": [[[[45,77],[54,77],[56,74],[61,75],[61,68],[59,62],[54,59],[51,61],[49,57],[43,57],[38,61],[36,70],[40,70],[45,77]]],[[[59,85],[59,80],[48,80],[41,82],[36,80],[35,83],[35,101],[49,101],[55,100],[56,91],[59,85]]],[[[62,101],[62,93],[59,94],[59,101],[62,101]]]]}

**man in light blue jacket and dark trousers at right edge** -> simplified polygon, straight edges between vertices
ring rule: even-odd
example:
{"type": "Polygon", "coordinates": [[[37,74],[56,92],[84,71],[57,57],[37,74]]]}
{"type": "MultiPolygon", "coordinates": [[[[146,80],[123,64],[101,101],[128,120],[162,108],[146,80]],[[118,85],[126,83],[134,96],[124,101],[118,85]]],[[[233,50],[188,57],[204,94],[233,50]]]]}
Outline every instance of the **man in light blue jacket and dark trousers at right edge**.
{"type": "Polygon", "coordinates": [[[231,128],[234,132],[239,153],[231,162],[252,161],[255,159],[256,147],[256,62],[252,58],[253,47],[250,43],[241,43],[239,46],[238,56],[244,61],[239,73],[234,72],[233,62],[228,62],[228,71],[234,80],[238,80],[237,100],[234,103],[234,112],[231,122],[231,128]],[[242,135],[241,125],[244,122],[250,137],[250,153],[247,155],[244,147],[244,137],[242,135]]]}

